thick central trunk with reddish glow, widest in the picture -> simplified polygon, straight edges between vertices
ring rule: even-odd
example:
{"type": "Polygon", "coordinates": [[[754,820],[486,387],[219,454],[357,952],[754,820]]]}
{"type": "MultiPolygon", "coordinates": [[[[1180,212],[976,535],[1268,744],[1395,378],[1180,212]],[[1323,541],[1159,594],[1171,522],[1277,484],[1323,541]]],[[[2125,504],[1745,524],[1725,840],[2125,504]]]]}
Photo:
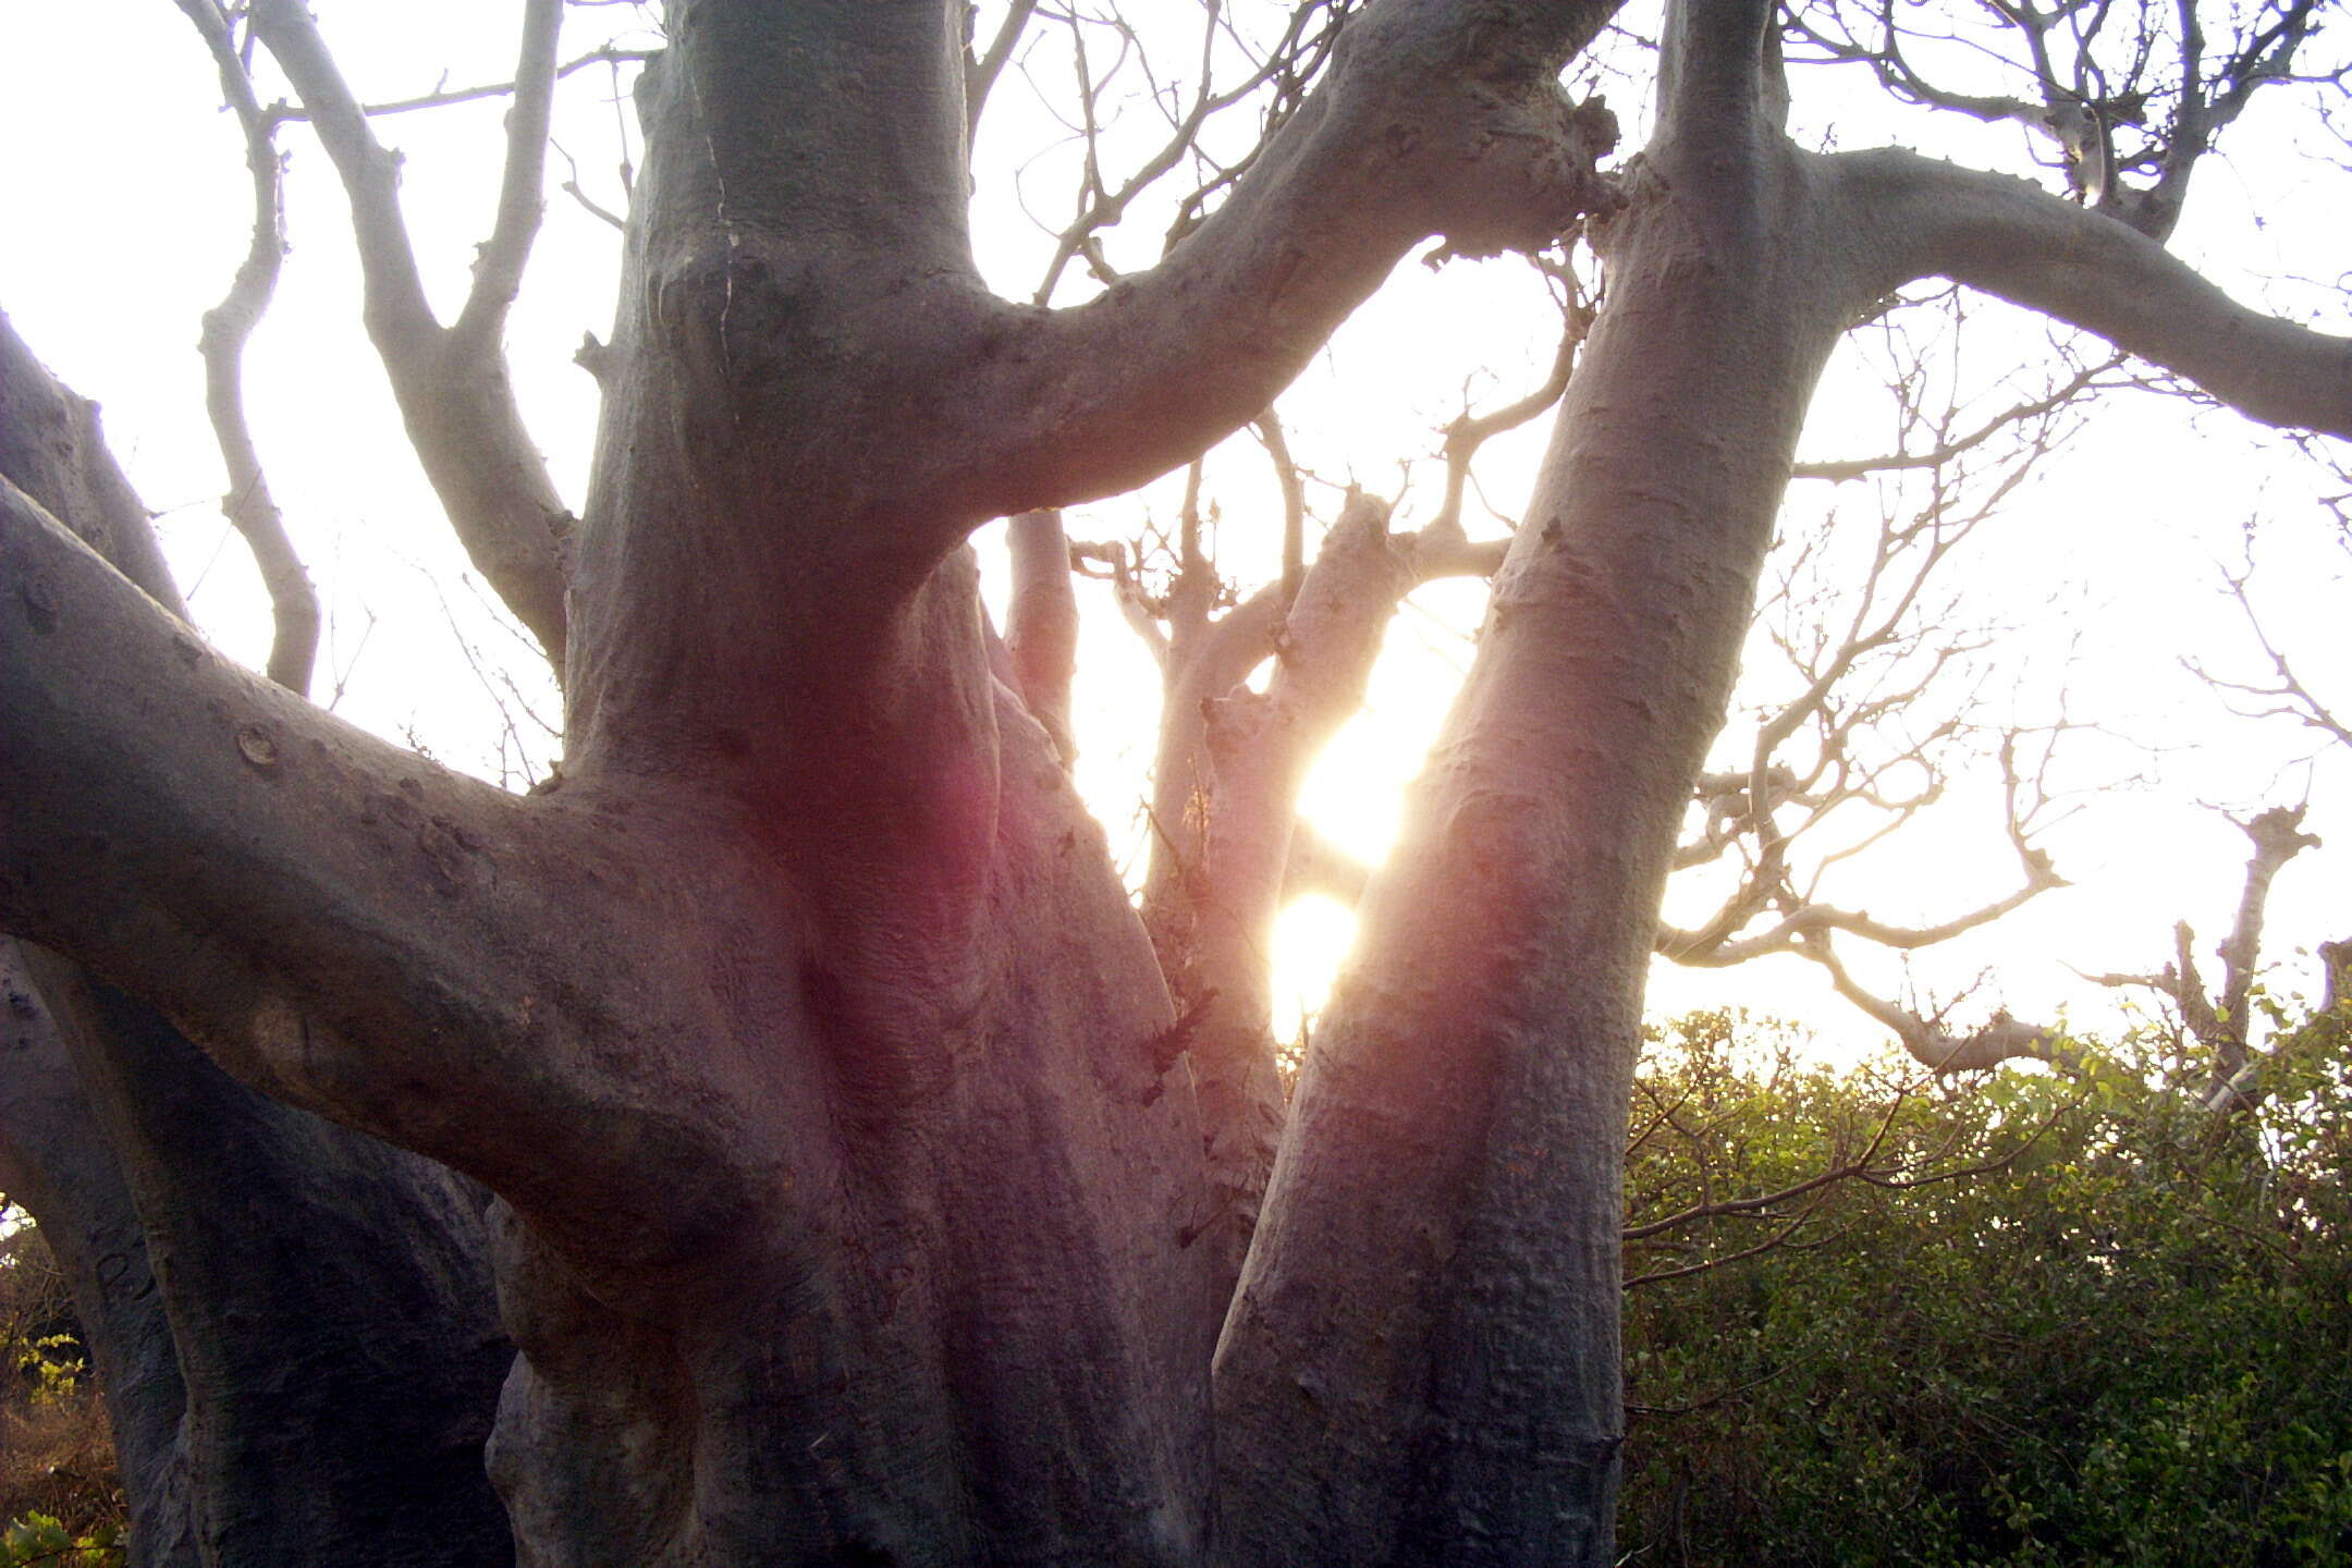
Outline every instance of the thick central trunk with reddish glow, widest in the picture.
{"type": "Polygon", "coordinates": [[[957,24],[677,5],[640,89],[555,806],[691,905],[588,1039],[663,1244],[560,1185],[499,1218],[494,1474],[541,1563],[1176,1566],[1207,1535],[1218,1302],[1167,992],[941,498],[988,306],[957,24]]]}

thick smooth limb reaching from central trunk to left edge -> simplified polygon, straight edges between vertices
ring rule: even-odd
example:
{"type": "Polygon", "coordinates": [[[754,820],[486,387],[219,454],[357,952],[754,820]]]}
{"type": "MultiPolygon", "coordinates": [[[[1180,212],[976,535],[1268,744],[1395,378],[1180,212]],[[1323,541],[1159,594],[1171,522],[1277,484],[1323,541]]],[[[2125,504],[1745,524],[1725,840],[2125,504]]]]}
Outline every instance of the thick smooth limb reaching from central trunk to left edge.
{"type": "Polygon", "coordinates": [[[588,1058],[583,1016],[609,1025],[609,943],[659,943],[652,884],[595,893],[642,877],[630,846],[228,663],[7,482],[0,778],[0,931],[256,1088],[517,1201],[652,1222],[680,1197],[633,1199],[586,1131],[630,1114],[623,1084],[541,1070],[588,1058]]]}

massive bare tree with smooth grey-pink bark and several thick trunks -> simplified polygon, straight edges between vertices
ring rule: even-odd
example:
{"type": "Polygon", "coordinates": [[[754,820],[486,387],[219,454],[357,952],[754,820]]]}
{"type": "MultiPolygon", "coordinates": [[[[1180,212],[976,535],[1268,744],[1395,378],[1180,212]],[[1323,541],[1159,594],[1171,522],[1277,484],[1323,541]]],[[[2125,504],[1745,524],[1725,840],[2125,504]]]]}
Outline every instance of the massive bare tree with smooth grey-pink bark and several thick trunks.
{"type": "MultiPolygon", "coordinates": [[[[1889,294],[1947,277],[2251,418],[2352,435],[2343,339],[2161,247],[2194,160],[2298,75],[2317,5],[2251,7],[2218,40],[2194,9],[1992,7],[2030,94],[1945,92],[1898,35],[1795,19],[1903,96],[2032,122],[2058,190],[1799,148],[1783,19],[1755,0],[1668,7],[1653,127],[1613,174],[1613,118],[1559,85],[1613,5],[1310,5],[1310,71],[1272,73],[1291,99],[1247,167],[1160,263],[1051,308],[995,296],[967,223],[971,110],[1035,7],[967,49],[950,0],[675,0],[637,85],[616,327],[583,353],[604,416],[574,520],[499,350],[560,0],[522,7],[506,193],[452,320],[419,282],[397,160],[301,5],[183,9],[259,148],[252,282],[209,334],[221,404],[273,242],[259,45],[350,195],[419,458],[562,668],[564,755],[515,797],[320,712],[287,574],[275,679],[216,656],[153,576],[94,423],[12,371],[0,924],[28,945],[24,1039],[45,1006],[73,1067],[49,1103],[82,1114],[80,1091],[115,1152],[64,1229],[141,1232],[179,1352],[176,1373],[108,1352],[183,1413],[132,1462],[151,1497],[174,1474],[191,1497],[176,1537],[148,1505],[153,1561],[496,1561],[477,1488],[362,1486],[397,1453],[449,1474],[480,1448],[506,1354],[485,1260],[513,1345],[487,1465],[522,1561],[1611,1561],[1642,980],[1823,362],[1889,294]],[[2103,71],[2105,49],[2138,63],[2103,71]],[[1571,230],[1606,296],[1282,1105],[1256,1020],[1171,1001],[1070,785],[1065,543],[1028,527],[1035,592],[1000,646],[964,541],[1261,418],[1423,240],[1545,252],[1571,230]],[[348,1173],[350,1279],[322,1295],[350,1316],[289,1328],[350,1361],[320,1352],[355,1401],[341,1429],[374,1448],[214,1441],[223,1408],[266,1401],[238,1399],[247,1361],[191,1347],[249,1345],[228,1307],[268,1286],[191,1279],[223,1305],[219,1340],[172,1291],[219,1239],[158,1222],[209,1166],[186,1119],[158,1126],[141,1039],[202,1084],[198,1117],[275,1128],[252,1147],[282,1190],[348,1173]],[[350,1319],[421,1324],[397,1359],[437,1375],[381,1375],[350,1319]],[[296,1490],[273,1507],[270,1486],[296,1490]],[[459,1544],[435,1556],[435,1528],[459,1544]]],[[[219,423],[266,555],[259,470],[219,423]]],[[[1383,524],[1357,508],[1284,574],[1268,689],[1207,693],[1214,764],[1338,679],[1317,628],[1458,543],[1383,524]]],[[[1261,816],[1235,818],[1270,823],[1235,863],[1263,886],[1289,816],[1261,816]]],[[[85,1309],[153,1347],[132,1307],[85,1309]]]]}

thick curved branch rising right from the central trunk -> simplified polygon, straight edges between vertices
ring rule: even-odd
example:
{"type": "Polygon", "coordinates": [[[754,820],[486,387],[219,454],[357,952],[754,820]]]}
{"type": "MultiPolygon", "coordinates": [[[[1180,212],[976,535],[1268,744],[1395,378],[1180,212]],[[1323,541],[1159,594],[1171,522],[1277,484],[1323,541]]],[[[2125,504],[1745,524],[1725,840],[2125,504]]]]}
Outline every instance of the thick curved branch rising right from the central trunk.
{"type": "Polygon", "coordinates": [[[1557,85],[1616,5],[1385,0],[1230,200],[1155,268],[1044,313],[1004,306],[981,388],[995,515],[1117,494],[1265,409],[1416,240],[1538,249],[1613,202],[1613,118],[1557,85]],[[1021,411],[1007,437],[1007,411],[1021,411]]]}

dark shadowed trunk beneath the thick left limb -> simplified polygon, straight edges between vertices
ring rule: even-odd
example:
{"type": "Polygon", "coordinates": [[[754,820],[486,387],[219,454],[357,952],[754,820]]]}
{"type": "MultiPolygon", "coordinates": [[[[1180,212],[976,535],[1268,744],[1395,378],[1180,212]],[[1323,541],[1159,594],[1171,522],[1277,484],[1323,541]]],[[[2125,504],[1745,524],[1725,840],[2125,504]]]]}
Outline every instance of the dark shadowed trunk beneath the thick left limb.
{"type": "Polygon", "coordinates": [[[510,1563],[482,1476],[510,1349],[480,1199],[245,1088],[71,964],[31,969],[122,1152],[186,1382],[202,1561],[510,1563]]]}

